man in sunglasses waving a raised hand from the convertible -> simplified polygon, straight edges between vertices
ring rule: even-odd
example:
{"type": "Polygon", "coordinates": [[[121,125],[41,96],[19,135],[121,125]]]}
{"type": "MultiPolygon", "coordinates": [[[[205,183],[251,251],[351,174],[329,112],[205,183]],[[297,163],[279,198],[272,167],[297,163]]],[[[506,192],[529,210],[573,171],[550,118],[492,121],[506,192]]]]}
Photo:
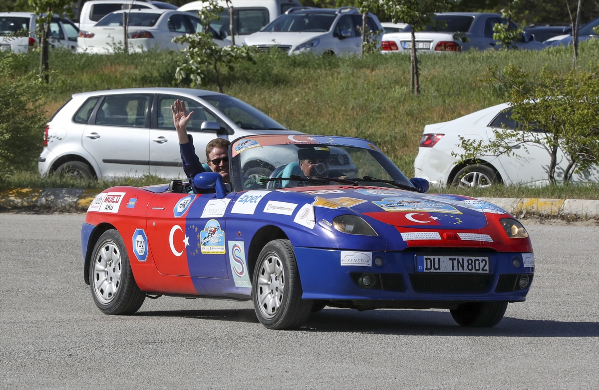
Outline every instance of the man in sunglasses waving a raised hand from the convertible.
{"type": "MultiPolygon", "coordinates": [[[[174,102],[174,105],[171,105],[171,110],[173,111],[173,123],[177,129],[177,137],[179,137],[179,150],[181,152],[183,171],[191,182],[196,174],[206,171],[195,154],[192,136],[187,134],[187,123],[189,123],[193,111],[187,114],[185,102],[179,99],[174,102]]],[[[230,183],[228,148],[229,141],[224,138],[214,138],[214,140],[211,140],[206,145],[208,167],[213,172],[219,173],[222,176],[223,183],[230,183]]]]}

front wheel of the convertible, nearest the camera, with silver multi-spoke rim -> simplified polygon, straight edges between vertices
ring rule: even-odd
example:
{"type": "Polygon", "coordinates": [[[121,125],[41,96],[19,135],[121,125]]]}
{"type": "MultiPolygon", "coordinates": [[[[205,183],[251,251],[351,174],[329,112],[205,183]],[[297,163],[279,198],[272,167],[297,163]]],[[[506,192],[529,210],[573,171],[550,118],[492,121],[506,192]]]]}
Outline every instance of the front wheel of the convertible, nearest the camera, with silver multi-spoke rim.
{"type": "Polygon", "coordinates": [[[312,301],[302,300],[301,281],[289,240],[273,240],[258,256],[252,298],[258,321],[268,329],[298,328],[308,319],[312,301]]]}

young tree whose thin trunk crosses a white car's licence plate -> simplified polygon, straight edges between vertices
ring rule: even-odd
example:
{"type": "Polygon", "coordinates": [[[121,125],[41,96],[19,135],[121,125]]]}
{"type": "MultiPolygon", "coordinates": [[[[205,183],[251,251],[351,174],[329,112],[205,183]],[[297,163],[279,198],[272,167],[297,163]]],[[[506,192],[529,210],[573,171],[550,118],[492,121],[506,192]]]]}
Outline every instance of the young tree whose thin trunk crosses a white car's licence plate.
{"type": "Polygon", "coordinates": [[[401,20],[412,26],[412,71],[410,72],[412,93],[420,93],[415,32],[435,23],[435,12],[447,10],[452,3],[453,0],[379,0],[379,4],[394,23],[401,20]]]}

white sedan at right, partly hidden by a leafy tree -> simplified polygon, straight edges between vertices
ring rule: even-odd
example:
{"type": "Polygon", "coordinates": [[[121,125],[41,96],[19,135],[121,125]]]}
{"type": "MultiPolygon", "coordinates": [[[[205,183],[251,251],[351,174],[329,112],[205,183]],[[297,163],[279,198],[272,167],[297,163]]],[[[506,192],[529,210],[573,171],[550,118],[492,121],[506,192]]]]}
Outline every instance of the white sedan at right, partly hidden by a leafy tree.
{"type": "MultiPolygon", "coordinates": [[[[466,161],[458,164],[463,150],[459,137],[488,142],[494,130],[517,129],[509,104],[498,104],[449,122],[434,123],[424,127],[418,156],[414,161],[415,176],[428,180],[431,185],[459,185],[461,187],[488,187],[503,182],[506,185],[531,183],[546,185],[550,163],[549,153],[537,144],[514,145],[512,156],[481,156],[480,164],[466,161]]],[[[556,179],[560,180],[568,161],[558,152],[556,179]]],[[[574,174],[573,182],[599,181],[599,167],[582,174],[574,174]]]]}

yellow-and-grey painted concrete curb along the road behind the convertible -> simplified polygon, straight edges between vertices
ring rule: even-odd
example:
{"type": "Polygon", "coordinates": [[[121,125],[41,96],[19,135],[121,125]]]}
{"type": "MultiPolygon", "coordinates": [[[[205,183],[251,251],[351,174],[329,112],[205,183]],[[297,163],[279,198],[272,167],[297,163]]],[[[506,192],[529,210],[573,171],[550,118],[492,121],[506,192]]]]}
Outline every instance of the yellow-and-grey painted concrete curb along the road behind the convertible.
{"type": "MultiPolygon", "coordinates": [[[[100,192],[78,188],[19,188],[0,192],[0,208],[77,208],[84,211],[100,192]]],[[[545,198],[480,198],[516,217],[526,214],[599,218],[599,200],[545,198]]]]}

